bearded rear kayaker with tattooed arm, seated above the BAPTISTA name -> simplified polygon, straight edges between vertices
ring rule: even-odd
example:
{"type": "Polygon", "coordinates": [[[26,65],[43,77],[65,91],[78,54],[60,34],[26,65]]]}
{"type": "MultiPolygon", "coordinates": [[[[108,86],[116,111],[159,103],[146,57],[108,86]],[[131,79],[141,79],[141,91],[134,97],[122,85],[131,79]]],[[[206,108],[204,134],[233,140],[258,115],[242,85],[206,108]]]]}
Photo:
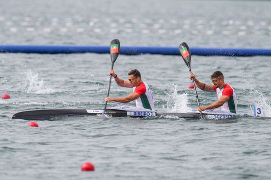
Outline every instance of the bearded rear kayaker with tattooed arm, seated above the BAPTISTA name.
{"type": "Polygon", "coordinates": [[[211,75],[213,85],[200,82],[194,73],[190,73],[189,78],[193,78],[197,86],[204,91],[217,93],[218,100],[210,105],[200,106],[199,111],[206,109],[217,108],[221,106],[221,110],[225,112],[236,113],[237,97],[234,89],[224,82],[224,75],[220,71],[215,71],[211,75]]]}

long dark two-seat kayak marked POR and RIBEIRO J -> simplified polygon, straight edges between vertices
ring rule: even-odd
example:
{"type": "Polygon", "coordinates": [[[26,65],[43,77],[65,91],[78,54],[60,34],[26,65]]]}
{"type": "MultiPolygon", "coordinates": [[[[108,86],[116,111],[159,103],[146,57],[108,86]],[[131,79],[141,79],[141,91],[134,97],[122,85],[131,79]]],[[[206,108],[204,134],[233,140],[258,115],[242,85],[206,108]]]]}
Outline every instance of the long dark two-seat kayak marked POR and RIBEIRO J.
{"type": "MultiPolygon", "coordinates": [[[[128,105],[115,106],[104,109],[43,109],[43,110],[29,110],[14,114],[14,119],[25,120],[50,120],[52,118],[61,116],[74,115],[110,115],[112,117],[155,117],[155,116],[177,116],[180,118],[194,118],[199,119],[199,111],[190,112],[159,112],[140,107],[133,107],[128,105]]],[[[239,114],[231,112],[223,112],[219,110],[208,110],[202,113],[203,117],[211,119],[227,119],[239,116],[239,114]]]]}

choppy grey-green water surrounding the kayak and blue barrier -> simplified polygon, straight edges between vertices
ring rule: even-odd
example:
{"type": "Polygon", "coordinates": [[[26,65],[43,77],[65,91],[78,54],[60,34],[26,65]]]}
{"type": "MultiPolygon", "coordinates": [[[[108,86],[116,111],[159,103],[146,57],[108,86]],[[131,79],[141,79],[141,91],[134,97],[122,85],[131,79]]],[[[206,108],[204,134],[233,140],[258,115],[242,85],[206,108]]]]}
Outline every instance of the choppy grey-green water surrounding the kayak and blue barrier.
{"type": "MultiPolygon", "coordinates": [[[[2,44],[178,46],[271,48],[269,1],[67,0],[2,3],[2,44]],[[256,14],[256,15],[255,15],[256,14]]],[[[229,120],[62,117],[12,119],[19,111],[102,108],[111,64],[109,54],[1,53],[1,179],[269,179],[270,119],[252,117],[254,103],[271,116],[270,57],[192,56],[199,80],[211,83],[221,70],[238,96],[229,120]],[[85,161],[94,172],[82,172],[85,161]]],[[[138,68],[150,84],[159,111],[197,108],[180,56],[119,55],[114,69],[127,78],[138,68]]],[[[110,96],[131,92],[112,82],[110,96]]],[[[198,90],[201,103],[215,93],[198,90]]],[[[108,106],[120,105],[110,102],[108,106]]],[[[129,103],[134,105],[134,102],[129,103]]]]}

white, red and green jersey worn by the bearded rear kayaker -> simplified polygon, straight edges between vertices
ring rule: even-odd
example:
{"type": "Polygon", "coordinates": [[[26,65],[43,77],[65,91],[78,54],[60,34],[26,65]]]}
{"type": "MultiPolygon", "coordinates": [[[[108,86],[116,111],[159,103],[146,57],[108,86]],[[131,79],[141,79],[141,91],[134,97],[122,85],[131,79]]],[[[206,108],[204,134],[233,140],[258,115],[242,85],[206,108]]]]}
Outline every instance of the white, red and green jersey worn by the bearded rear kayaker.
{"type": "Polygon", "coordinates": [[[225,84],[223,88],[216,88],[215,86],[214,90],[217,93],[217,98],[219,99],[222,95],[226,95],[229,97],[229,100],[227,102],[225,102],[222,106],[221,106],[221,110],[226,111],[226,112],[233,112],[236,113],[236,109],[237,109],[237,97],[236,97],[236,93],[234,91],[234,89],[228,85],[225,84]]]}

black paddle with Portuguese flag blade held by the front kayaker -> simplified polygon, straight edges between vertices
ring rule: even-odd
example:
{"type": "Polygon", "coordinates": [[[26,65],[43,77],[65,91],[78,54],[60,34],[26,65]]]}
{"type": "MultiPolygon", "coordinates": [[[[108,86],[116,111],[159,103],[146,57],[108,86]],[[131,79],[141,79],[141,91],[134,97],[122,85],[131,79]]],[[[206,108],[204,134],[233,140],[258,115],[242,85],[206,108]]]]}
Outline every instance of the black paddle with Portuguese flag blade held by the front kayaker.
{"type": "MultiPolygon", "coordinates": [[[[113,39],[110,42],[110,57],[111,57],[111,69],[113,69],[114,66],[114,62],[117,59],[118,53],[119,53],[119,48],[120,48],[120,44],[119,44],[119,40],[118,39],[113,39]]],[[[112,74],[110,74],[110,78],[109,78],[109,85],[108,85],[108,90],[107,90],[107,96],[109,96],[109,91],[110,91],[110,86],[111,86],[111,79],[112,79],[112,74]]],[[[105,102],[104,105],[104,113],[106,113],[106,106],[107,106],[107,101],[105,102]]]]}

